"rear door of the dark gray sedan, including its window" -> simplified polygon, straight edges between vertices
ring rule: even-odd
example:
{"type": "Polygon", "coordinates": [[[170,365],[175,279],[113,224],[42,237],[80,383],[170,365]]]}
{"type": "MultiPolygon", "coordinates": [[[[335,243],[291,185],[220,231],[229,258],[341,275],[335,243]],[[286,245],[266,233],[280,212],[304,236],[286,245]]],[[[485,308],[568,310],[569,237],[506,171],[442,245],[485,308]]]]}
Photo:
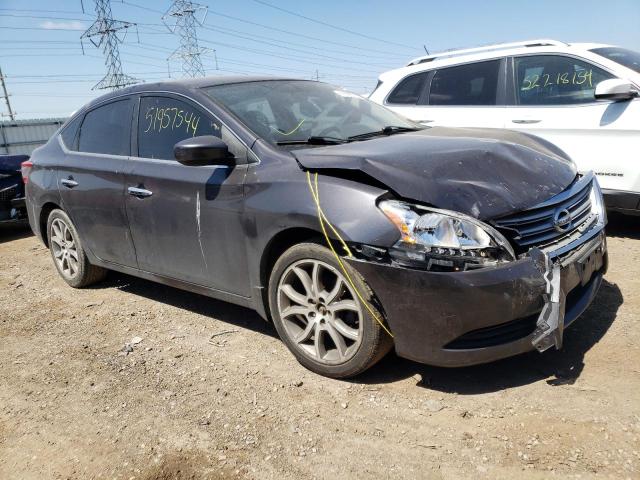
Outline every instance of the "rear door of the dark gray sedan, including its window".
{"type": "Polygon", "coordinates": [[[62,207],[84,246],[101,260],[136,266],[124,207],[124,169],[131,146],[133,99],[89,110],[61,134],[58,169],[62,207]]]}

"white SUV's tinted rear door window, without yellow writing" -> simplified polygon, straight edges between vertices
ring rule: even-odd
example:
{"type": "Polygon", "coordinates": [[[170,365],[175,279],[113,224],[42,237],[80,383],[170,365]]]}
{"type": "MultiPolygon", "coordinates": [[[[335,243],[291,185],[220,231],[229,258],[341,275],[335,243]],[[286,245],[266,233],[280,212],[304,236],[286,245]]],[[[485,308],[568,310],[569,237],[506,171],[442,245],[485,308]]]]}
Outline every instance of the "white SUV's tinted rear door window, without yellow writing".
{"type": "Polygon", "coordinates": [[[500,60],[438,70],[431,80],[429,105],[495,105],[500,60]]]}

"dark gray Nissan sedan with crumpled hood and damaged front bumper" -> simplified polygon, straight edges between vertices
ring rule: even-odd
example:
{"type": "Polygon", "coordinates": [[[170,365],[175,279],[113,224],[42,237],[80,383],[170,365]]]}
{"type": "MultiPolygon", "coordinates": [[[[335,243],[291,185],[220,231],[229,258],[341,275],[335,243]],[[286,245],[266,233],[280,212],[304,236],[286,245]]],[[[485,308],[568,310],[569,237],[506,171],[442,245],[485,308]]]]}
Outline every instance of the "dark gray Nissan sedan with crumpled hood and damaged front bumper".
{"type": "Polygon", "coordinates": [[[532,136],[424,128],[319,82],[144,84],[23,167],[72,287],[117,270],[257,310],[309,369],[560,348],[606,270],[591,173],[532,136]]]}

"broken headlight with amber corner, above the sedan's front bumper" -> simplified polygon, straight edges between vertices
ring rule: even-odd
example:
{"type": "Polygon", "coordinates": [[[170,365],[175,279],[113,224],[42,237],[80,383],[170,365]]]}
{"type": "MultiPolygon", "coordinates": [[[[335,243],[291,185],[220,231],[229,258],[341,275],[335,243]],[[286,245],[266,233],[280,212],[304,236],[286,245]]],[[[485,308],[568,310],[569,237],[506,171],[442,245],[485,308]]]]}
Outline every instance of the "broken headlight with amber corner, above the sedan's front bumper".
{"type": "Polygon", "coordinates": [[[400,240],[389,251],[399,263],[459,271],[515,258],[498,231],[473,217],[398,200],[384,200],[378,207],[400,231],[400,240]]]}

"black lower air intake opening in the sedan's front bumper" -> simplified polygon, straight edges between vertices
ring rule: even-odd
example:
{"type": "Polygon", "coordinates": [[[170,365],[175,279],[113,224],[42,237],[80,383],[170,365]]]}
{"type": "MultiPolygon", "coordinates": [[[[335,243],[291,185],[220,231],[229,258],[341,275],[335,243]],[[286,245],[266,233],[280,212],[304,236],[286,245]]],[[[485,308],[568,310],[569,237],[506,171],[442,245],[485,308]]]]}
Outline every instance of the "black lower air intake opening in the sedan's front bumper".
{"type": "Polygon", "coordinates": [[[519,318],[511,322],[493,327],[479,328],[467,332],[444,346],[448,350],[469,350],[473,348],[487,348],[515,342],[528,337],[536,329],[536,322],[540,313],[519,318]]]}

